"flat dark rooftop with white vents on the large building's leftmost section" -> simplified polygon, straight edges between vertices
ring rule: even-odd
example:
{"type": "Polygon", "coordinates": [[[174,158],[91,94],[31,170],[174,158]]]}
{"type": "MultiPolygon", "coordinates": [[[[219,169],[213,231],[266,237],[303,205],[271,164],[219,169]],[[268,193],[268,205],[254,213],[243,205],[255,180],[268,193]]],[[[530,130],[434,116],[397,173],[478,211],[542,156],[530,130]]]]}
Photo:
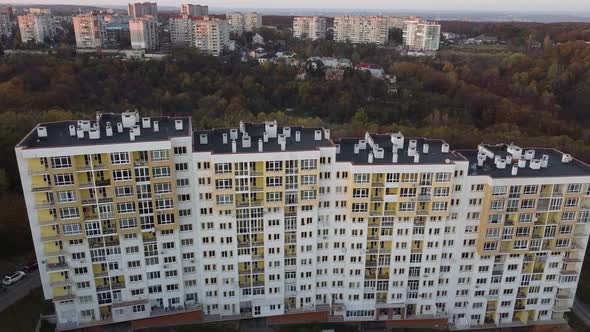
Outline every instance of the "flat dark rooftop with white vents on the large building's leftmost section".
{"type": "MultiPolygon", "coordinates": [[[[135,129],[136,130],[136,129],[135,129]]],[[[153,142],[168,140],[171,137],[182,137],[191,135],[191,119],[190,117],[144,117],[140,118],[136,112],[127,113],[105,113],[94,121],[58,121],[40,123],[35,127],[25,138],[17,145],[17,147],[24,149],[37,148],[55,148],[55,147],[72,147],[84,145],[108,145],[121,144],[131,142],[153,142]],[[123,120],[123,116],[133,114],[132,118],[123,120]],[[139,127],[139,135],[134,134],[134,140],[131,140],[130,132],[134,131],[133,126],[122,127],[119,131],[118,124],[129,124],[133,121],[133,126],[139,127]],[[144,123],[144,121],[146,121],[144,123]],[[182,126],[178,129],[177,121],[182,122],[182,126]],[[84,124],[83,124],[84,122],[84,124]],[[149,127],[146,124],[149,122],[149,127]],[[107,123],[112,128],[112,135],[107,135],[107,123]],[[157,123],[158,130],[155,130],[155,123],[157,123]],[[70,131],[72,126],[75,127],[74,135],[70,131]],[[91,138],[91,132],[88,129],[82,130],[82,137],[78,136],[78,129],[96,128],[99,137],[91,138]],[[94,126],[94,127],[93,127],[94,126]],[[44,128],[44,129],[43,129],[44,128]],[[41,131],[40,131],[41,129],[41,131]],[[45,135],[43,134],[45,133],[45,135]]]]}

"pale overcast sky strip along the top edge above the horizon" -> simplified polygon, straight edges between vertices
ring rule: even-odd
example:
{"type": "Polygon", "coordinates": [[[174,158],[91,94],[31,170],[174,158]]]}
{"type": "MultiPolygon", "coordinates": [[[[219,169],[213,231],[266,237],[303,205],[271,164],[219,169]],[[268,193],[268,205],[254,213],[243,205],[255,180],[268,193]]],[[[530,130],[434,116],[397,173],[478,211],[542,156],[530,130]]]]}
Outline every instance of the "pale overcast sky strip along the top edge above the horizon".
{"type": "MultiPolygon", "coordinates": [[[[139,1],[139,0],[134,0],[139,1]]],[[[144,0],[141,0],[144,1],[144,0]]],[[[126,0],[0,0],[19,4],[78,4],[78,5],[126,5],[126,0]]],[[[159,0],[160,6],[179,6],[188,0],[159,0]]],[[[590,0],[215,0],[191,1],[210,7],[247,8],[318,8],[318,9],[388,9],[388,10],[495,10],[495,11],[550,11],[590,12],[590,0]]]]}

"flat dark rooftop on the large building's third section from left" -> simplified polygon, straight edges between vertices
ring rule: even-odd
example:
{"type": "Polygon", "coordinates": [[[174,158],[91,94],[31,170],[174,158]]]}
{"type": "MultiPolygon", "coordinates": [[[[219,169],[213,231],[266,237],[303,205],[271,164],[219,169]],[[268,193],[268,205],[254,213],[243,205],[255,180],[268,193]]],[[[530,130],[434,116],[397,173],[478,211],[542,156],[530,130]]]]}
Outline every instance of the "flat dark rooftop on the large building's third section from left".
{"type": "Polygon", "coordinates": [[[340,152],[336,155],[336,161],[351,162],[353,164],[401,164],[401,165],[427,165],[427,164],[450,164],[455,161],[466,161],[465,158],[455,154],[450,150],[449,145],[440,139],[426,138],[407,138],[401,134],[366,134],[364,139],[359,138],[342,138],[336,140],[335,144],[340,146],[340,152]],[[395,146],[397,161],[394,162],[394,140],[392,137],[398,137],[395,146]],[[367,142],[378,145],[383,149],[383,157],[375,153],[375,149],[367,142]],[[366,147],[362,148],[363,141],[366,147]],[[415,159],[412,152],[408,153],[410,145],[415,144],[415,153],[419,156],[415,159]],[[358,151],[355,152],[355,145],[358,151]],[[425,149],[425,145],[427,146],[425,149]],[[448,150],[443,151],[443,146],[448,150]],[[373,155],[372,162],[369,162],[369,154],[373,155]]]}

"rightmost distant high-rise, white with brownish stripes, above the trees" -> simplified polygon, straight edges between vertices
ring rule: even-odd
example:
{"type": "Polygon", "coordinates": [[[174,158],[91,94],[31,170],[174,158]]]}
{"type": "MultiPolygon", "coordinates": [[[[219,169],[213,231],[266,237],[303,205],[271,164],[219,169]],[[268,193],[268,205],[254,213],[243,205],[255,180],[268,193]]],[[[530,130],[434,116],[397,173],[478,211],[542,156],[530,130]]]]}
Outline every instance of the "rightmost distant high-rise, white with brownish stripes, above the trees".
{"type": "Polygon", "coordinates": [[[404,21],[404,46],[418,51],[436,51],[440,46],[440,24],[419,19],[404,21]]]}

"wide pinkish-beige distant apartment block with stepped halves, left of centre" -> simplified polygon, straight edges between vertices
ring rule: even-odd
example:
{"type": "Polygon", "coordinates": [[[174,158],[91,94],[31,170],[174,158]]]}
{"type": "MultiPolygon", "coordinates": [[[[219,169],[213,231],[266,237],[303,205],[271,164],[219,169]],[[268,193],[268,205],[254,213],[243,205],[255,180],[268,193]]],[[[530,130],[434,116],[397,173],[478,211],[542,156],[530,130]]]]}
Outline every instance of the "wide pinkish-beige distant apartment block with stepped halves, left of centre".
{"type": "Polygon", "coordinates": [[[224,49],[233,49],[230,26],[225,20],[207,16],[178,14],[170,17],[170,40],[175,47],[197,47],[218,56],[224,49]]]}

